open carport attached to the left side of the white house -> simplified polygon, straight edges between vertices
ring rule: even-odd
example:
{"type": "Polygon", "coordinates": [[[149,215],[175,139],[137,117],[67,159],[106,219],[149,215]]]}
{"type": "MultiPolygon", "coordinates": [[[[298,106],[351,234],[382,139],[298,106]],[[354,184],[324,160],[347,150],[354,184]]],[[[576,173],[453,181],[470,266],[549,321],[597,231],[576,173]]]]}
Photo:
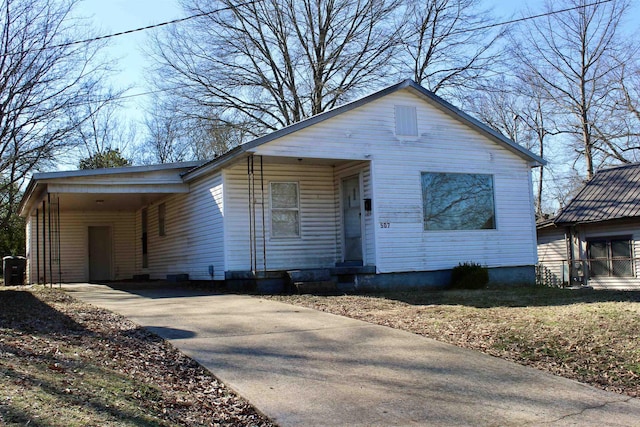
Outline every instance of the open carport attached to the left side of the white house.
{"type": "Polygon", "coordinates": [[[131,278],[146,252],[147,224],[138,213],[187,193],[182,174],[198,165],[34,174],[19,211],[26,218],[27,283],[131,278]]]}

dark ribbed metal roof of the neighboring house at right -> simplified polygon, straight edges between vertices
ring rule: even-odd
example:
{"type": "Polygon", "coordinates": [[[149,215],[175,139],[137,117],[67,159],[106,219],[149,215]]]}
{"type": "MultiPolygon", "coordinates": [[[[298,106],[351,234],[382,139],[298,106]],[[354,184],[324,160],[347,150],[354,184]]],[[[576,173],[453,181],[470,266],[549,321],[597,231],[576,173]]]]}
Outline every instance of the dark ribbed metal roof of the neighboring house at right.
{"type": "Polygon", "coordinates": [[[558,214],[556,224],[640,217],[640,163],[603,169],[558,214]]]}

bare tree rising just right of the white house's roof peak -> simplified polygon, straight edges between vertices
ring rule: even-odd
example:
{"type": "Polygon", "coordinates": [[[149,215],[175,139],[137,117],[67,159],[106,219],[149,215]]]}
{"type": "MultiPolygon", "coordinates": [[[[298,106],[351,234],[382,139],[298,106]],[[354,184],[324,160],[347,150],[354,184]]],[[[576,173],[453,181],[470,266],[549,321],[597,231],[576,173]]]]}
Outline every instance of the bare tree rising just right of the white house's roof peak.
{"type": "Polygon", "coordinates": [[[433,92],[476,88],[497,66],[497,41],[504,29],[493,22],[480,0],[404,0],[400,19],[399,70],[433,92]]]}

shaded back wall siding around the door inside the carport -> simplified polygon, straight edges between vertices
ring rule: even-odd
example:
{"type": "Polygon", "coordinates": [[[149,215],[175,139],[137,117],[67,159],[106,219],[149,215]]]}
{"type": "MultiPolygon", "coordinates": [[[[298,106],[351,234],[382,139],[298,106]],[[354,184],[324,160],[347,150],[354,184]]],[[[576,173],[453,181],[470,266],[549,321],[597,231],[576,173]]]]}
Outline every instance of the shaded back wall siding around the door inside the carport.
{"type": "MultiPolygon", "coordinates": [[[[60,213],[60,264],[62,282],[78,283],[89,280],[89,227],[107,226],[111,228],[111,279],[131,278],[135,271],[135,215],[133,212],[83,212],[65,211],[61,206],[60,213]]],[[[40,276],[44,273],[44,259],[42,257],[42,233],[40,242],[36,242],[35,217],[28,218],[27,228],[27,256],[29,258],[29,281],[37,282],[36,248],[40,248],[40,276]]],[[[47,224],[47,229],[48,229],[47,224]]],[[[42,227],[42,222],[40,222],[42,227]]],[[[47,232],[48,233],[48,232],[47,232]]],[[[49,274],[49,243],[46,242],[47,282],[51,281],[49,274]]],[[[58,267],[54,264],[54,281],[58,281],[58,267]]]]}

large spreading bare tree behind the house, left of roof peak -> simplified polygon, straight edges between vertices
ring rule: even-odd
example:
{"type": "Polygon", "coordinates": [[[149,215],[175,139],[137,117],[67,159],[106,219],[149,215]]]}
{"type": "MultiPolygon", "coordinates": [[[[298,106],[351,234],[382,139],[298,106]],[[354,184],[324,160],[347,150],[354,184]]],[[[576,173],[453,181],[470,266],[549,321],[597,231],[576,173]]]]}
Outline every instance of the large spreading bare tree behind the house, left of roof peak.
{"type": "Polygon", "coordinates": [[[251,135],[275,130],[385,78],[398,1],[183,0],[206,15],[154,40],[156,81],[185,112],[251,135]]]}

